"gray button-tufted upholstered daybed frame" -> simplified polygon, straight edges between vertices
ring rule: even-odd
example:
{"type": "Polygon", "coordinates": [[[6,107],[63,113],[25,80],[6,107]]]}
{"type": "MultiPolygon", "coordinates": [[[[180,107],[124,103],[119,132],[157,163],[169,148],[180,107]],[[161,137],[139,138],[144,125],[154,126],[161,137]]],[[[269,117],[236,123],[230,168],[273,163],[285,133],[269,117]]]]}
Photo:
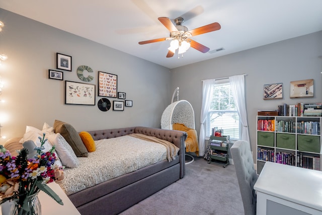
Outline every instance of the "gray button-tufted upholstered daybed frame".
{"type": "Polygon", "coordinates": [[[185,176],[187,133],[148,127],[128,127],[89,131],[94,140],[142,133],[165,139],[180,151],[176,160],[158,162],[135,172],[69,195],[81,214],[117,214],[185,176]]]}

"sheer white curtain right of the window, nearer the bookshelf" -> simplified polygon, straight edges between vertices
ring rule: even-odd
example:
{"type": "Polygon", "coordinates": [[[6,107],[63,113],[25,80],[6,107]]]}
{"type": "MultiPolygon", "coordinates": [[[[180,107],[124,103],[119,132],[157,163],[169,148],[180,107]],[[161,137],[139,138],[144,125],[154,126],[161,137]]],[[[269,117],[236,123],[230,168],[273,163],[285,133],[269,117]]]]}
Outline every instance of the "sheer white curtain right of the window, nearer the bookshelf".
{"type": "Polygon", "coordinates": [[[242,125],[241,128],[241,140],[250,142],[250,135],[248,132],[247,112],[245,102],[245,75],[231,76],[229,77],[229,84],[231,92],[235,101],[237,112],[239,115],[239,121],[242,125]]]}

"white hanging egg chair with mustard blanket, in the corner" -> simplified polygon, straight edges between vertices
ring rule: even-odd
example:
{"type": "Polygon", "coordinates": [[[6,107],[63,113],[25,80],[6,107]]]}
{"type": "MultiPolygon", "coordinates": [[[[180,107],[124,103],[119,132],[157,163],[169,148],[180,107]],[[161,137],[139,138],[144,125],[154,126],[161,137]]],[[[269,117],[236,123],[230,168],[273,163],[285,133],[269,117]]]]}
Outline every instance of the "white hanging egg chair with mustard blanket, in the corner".
{"type": "MultiPolygon", "coordinates": [[[[161,128],[169,130],[182,130],[187,132],[188,137],[185,141],[186,152],[194,152],[199,156],[198,137],[195,130],[195,113],[191,104],[186,100],[179,100],[179,88],[177,88],[172,97],[172,103],[165,109],[161,117],[161,128]],[[177,100],[173,102],[177,92],[177,100]]],[[[194,158],[189,155],[192,160],[194,158]]]]}

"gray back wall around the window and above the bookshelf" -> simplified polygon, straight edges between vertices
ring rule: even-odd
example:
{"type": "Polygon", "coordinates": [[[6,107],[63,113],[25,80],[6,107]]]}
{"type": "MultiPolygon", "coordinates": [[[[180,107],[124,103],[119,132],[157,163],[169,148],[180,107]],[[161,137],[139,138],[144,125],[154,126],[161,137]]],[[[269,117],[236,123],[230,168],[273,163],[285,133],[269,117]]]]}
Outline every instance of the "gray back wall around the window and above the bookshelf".
{"type": "MultiPolygon", "coordinates": [[[[321,102],[322,31],[172,69],[172,89],[195,110],[200,130],[202,80],[247,74],[246,106],[252,149],[256,152],[258,109],[277,109],[283,103],[321,102]],[[290,99],[290,82],[313,79],[314,98],[290,99]],[[265,84],[283,83],[283,99],[263,100],[265,84]]],[[[254,153],[254,159],[256,153],[254,153]]]]}

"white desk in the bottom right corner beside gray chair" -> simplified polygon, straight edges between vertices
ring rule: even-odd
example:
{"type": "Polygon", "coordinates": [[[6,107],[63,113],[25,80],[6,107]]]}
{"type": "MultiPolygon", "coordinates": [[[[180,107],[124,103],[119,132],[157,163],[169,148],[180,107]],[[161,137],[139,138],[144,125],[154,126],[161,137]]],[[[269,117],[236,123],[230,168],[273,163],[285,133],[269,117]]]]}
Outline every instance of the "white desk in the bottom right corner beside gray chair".
{"type": "Polygon", "coordinates": [[[257,182],[257,215],[322,214],[322,172],[266,162],[257,182]]]}

